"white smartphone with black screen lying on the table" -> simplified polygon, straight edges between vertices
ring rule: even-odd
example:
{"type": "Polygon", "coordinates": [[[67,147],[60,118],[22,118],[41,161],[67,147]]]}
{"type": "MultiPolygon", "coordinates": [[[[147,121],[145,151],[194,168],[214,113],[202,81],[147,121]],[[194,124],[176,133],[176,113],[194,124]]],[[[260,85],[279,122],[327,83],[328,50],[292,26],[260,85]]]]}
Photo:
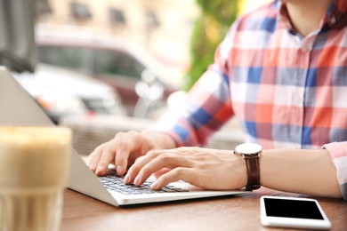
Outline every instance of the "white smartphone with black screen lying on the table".
{"type": "Polygon", "coordinates": [[[331,228],[327,215],[314,199],[264,195],[260,207],[265,227],[331,228]]]}

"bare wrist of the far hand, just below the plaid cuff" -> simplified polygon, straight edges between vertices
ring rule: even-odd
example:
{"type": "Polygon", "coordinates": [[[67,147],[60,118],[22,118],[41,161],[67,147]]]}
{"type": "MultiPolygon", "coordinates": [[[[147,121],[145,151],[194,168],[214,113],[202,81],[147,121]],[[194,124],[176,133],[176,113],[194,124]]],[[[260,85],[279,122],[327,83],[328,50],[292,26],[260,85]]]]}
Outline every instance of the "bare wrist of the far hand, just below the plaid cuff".
{"type": "Polygon", "coordinates": [[[176,147],[173,138],[164,131],[145,130],[141,134],[154,144],[154,149],[171,149],[176,147]]]}

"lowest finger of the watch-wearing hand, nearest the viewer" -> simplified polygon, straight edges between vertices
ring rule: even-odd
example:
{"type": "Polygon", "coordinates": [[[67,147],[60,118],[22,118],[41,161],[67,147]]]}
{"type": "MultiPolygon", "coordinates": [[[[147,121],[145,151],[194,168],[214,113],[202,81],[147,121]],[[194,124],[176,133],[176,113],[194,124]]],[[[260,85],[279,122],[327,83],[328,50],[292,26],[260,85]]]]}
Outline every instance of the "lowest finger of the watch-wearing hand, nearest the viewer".
{"type": "Polygon", "coordinates": [[[190,183],[192,181],[192,172],[193,171],[190,171],[190,168],[182,167],[175,168],[172,171],[167,171],[150,186],[150,189],[159,190],[160,188],[165,187],[169,183],[178,181],[180,179],[190,183]]]}

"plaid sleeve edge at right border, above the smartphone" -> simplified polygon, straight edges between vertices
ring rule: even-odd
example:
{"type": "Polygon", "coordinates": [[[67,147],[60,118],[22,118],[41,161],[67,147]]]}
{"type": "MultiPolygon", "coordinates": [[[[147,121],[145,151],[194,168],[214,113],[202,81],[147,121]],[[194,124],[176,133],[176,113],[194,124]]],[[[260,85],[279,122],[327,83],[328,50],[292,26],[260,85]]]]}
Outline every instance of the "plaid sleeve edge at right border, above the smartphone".
{"type": "Polygon", "coordinates": [[[347,141],[330,143],[324,146],[336,167],[337,179],[343,199],[347,200],[347,141]]]}

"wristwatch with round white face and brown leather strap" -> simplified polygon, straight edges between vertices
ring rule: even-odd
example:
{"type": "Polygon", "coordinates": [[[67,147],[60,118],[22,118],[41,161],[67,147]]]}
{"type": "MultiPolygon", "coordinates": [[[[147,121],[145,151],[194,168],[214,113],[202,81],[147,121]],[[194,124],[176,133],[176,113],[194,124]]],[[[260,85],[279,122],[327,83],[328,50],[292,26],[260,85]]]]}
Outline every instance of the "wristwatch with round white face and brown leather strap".
{"type": "Polygon", "coordinates": [[[246,190],[254,190],[261,187],[259,158],[262,146],[254,143],[244,143],[235,147],[234,154],[242,155],[246,162],[247,185],[246,190]]]}

